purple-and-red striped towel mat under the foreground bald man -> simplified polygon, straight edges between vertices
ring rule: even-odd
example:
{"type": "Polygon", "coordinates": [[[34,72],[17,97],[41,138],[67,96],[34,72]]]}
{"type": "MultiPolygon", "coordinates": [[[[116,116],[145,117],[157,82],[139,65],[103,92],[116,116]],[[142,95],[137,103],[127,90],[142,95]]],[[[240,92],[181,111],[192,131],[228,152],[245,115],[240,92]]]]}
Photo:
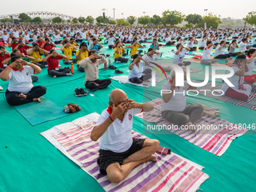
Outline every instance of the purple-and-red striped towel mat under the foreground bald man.
{"type": "MultiPolygon", "coordinates": [[[[96,163],[99,142],[90,139],[98,117],[99,114],[89,114],[70,123],[54,126],[41,135],[95,178],[105,191],[196,191],[209,178],[201,171],[202,166],[172,153],[155,154],[157,162],[136,166],[123,181],[111,183],[107,175],[99,173],[96,163]]],[[[146,137],[133,131],[133,138],[146,137]]]]}

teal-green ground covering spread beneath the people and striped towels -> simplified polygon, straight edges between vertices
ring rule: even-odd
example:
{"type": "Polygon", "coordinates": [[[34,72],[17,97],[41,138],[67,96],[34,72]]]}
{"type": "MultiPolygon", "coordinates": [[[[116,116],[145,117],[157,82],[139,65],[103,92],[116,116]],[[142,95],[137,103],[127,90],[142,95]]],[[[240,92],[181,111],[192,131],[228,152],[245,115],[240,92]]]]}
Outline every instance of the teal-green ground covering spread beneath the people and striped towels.
{"type": "MultiPolygon", "coordinates": [[[[170,50],[171,48],[163,47],[163,49],[170,50]]],[[[108,48],[104,48],[104,50],[105,53],[111,53],[112,56],[113,50],[108,50],[108,48]]],[[[160,47],[160,51],[162,51],[162,47],[160,47]]],[[[172,54],[164,53],[163,56],[172,56],[172,54]]],[[[114,61],[113,59],[111,58],[111,61],[114,61]]],[[[126,71],[129,63],[114,64],[114,66],[117,66],[118,69],[124,72],[123,74],[127,75],[126,71]]],[[[192,63],[191,67],[203,70],[202,72],[191,74],[192,80],[202,80],[205,66],[192,63]]],[[[107,75],[114,76],[114,70],[101,69],[99,71],[100,79],[106,78],[107,75]]],[[[136,102],[147,102],[160,97],[160,88],[149,87],[148,89],[143,89],[131,84],[119,84],[117,81],[112,81],[112,84],[107,89],[91,92],[95,97],[89,95],[75,97],[75,87],[84,87],[84,73],[75,71],[72,77],[52,78],[47,75],[47,69],[43,69],[41,74],[37,76],[39,80],[34,85],[47,87],[45,95],[47,99],[59,106],[64,106],[67,102],[74,102],[81,106],[81,111],[70,114],[65,118],[50,120],[32,126],[0,96],[1,106],[5,109],[0,121],[0,133],[2,136],[0,140],[0,191],[104,191],[93,178],[58,149],[54,148],[39,133],[86,114],[93,112],[101,114],[108,107],[108,94],[114,88],[123,89],[127,96],[130,99],[135,99],[136,102]]],[[[159,85],[165,82],[163,80],[159,85]]],[[[0,81],[0,85],[4,90],[8,87],[7,82],[0,81]]],[[[3,93],[3,91],[0,92],[0,95],[3,93]]],[[[218,107],[221,111],[219,117],[230,122],[255,123],[256,111],[251,109],[221,102],[206,96],[186,96],[186,99],[187,104],[200,103],[218,107]]],[[[170,134],[167,130],[159,134],[145,131],[143,130],[143,123],[145,122],[142,119],[134,117],[133,129],[151,139],[158,139],[160,145],[172,149],[175,154],[179,154],[205,167],[203,172],[206,172],[210,178],[200,186],[203,191],[255,191],[256,136],[253,131],[248,131],[244,136],[237,138],[232,142],[225,154],[221,157],[216,157],[214,154],[197,148],[181,137],[170,134]]],[[[198,191],[200,192],[201,190],[198,191]]]]}

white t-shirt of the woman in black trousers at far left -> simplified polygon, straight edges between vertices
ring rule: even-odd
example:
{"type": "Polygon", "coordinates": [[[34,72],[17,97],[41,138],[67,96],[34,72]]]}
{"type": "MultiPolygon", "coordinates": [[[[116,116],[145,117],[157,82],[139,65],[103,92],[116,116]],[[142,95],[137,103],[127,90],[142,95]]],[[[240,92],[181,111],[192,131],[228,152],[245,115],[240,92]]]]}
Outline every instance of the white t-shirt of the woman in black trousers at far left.
{"type": "Polygon", "coordinates": [[[23,66],[23,70],[18,71],[12,68],[9,73],[9,91],[20,92],[23,94],[29,93],[32,89],[31,75],[35,73],[31,66],[23,66]]]}

